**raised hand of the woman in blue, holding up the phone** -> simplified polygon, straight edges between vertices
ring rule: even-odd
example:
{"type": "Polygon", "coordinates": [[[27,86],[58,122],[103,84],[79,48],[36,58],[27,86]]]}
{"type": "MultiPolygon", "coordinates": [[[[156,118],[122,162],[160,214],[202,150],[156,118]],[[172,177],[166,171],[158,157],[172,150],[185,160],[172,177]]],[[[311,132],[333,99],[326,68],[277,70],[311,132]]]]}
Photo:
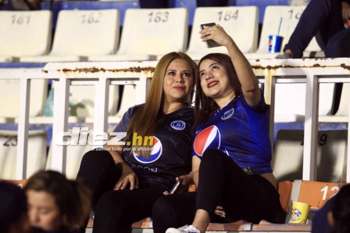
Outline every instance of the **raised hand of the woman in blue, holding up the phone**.
{"type": "Polygon", "coordinates": [[[219,45],[228,46],[233,44],[233,39],[225,32],[225,30],[218,24],[213,27],[204,26],[204,29],[199,32],[202,41],[214,40],[219,45]]]}

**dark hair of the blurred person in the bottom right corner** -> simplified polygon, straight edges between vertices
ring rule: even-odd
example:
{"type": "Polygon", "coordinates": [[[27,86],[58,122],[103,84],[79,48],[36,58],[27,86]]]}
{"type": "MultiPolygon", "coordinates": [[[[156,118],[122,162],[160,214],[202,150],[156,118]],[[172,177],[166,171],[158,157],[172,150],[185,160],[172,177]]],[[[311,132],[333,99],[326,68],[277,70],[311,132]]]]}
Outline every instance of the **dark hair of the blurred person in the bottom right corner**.
{"type": "Polygon", "coordinates": [[[332,208],[334,233],[350,232],[350,185],[345,185],[334,197],[332,208]]]}

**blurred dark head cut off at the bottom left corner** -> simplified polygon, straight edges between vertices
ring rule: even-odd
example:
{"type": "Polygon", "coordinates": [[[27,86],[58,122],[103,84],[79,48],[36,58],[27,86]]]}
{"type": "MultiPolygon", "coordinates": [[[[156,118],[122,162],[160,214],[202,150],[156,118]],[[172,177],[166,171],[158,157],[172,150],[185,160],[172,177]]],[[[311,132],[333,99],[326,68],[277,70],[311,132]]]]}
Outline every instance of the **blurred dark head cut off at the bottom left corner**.
{"type": "Polygon", "coordinates": [[[27,197],[15,184],[0,182],[0,232],[28,232],[27,197]]]}

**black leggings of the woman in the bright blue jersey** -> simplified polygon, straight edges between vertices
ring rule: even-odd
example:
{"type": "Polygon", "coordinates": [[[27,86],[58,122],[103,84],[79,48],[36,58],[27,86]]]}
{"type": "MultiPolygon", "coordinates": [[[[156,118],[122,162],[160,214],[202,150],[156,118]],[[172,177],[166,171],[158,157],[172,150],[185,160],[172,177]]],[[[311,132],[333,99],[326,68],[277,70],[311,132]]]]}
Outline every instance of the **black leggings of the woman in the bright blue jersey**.
{"type": "Polygon", "coordinates": [[[286,217],[279,194],[269,181],[260,175],[247,175],[217,149],[208,149],[203,154],[197,192],[163,196],[154,204],[154,233],[191,224],[197,209],[208,211],[210,221],[216,223],[241,219],[255,224],[262,219],[284,223],[286,217]],[[223,207],[225,218],[214,214],[218,205],[223,207]]]}

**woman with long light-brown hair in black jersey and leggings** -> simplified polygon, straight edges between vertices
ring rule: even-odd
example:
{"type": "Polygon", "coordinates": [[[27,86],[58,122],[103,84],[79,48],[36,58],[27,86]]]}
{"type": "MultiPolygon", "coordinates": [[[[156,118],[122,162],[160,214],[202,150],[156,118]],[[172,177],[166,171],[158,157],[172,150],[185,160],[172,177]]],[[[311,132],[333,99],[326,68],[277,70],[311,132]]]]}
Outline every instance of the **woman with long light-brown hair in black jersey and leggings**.
{"type": "Polygon", "coordinates": [[[130,233],[134,222],[152,216],[153,204],[177,177],[186,183],[194,122],[188,99],[195,72],[186,54],[163,56],[145,104],[131,107],[114,129],[126,137],[116,136],[106,151],[83,156],[77,177],[93,193],[93,233],[130,233]]]}

